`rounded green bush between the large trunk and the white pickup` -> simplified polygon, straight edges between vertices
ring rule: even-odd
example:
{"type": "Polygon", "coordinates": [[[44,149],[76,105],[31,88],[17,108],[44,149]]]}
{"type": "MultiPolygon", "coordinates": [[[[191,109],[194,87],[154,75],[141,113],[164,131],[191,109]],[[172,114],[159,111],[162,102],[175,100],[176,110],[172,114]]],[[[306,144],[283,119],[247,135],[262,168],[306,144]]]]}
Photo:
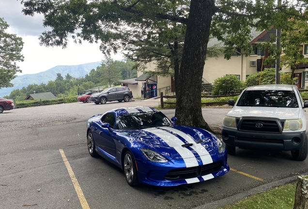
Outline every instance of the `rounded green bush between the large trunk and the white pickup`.
{"type": "Polygon", "coordinates": [[[236,75],[225,75],[216,78],[213,86],[214,95],[230,95],[241,92],[244,88],[244,82],[239,80],[236,75]]]}

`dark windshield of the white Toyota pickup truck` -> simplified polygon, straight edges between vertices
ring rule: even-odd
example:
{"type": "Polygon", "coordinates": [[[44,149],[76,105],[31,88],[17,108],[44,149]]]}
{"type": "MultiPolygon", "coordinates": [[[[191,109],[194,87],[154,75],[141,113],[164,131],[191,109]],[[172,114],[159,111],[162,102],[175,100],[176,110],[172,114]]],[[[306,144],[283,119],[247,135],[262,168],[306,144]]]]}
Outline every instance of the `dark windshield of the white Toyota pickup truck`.
{"type": "Polygon", "coordinates": [[[246,90],[237,106],[298,107],[294,91],[290,90],[246,90]]]}

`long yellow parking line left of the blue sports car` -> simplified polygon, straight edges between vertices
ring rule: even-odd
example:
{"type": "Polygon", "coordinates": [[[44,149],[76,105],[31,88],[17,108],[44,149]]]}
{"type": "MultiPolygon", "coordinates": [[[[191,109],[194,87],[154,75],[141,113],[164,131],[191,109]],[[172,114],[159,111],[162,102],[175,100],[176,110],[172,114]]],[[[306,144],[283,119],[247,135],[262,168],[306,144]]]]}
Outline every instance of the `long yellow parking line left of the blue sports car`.
{"type": "Polygon", "coordinates": [[[78,198],[79,198],[79,201],[80,201],[82,209],[90,209],[89,205],[88,205],[88,202],[87,202],[86,198],[84,197],[83,192],[82,192],[82,190],[81,190],[81,188],[79,186],[79,183],[78,183],[78,181],[77,181],[77,179],[75,177],[75,174],[74,174],[74,172],[72,170],[72,167],[69,164],[67,158],[65,157],[63,149],[59,149],[59,151],[60,151],[60,153],[62,155],[63,162],[64,162],[64,164],[65,164],[65,166],[67,168],[68,174],[70,175],[71,180],[73,182],[73,185],[75,187],[75,191],[76,191],[76,193],[78,195],[78,198]]]}

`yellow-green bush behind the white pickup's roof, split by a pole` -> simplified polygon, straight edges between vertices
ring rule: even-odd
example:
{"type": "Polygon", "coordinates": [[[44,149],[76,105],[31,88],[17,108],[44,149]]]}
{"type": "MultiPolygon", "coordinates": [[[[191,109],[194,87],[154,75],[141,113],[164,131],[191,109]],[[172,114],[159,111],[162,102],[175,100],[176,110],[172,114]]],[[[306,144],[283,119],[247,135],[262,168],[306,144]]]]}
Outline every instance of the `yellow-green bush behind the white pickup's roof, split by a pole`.
{"type": "MultiPolygon", "coordinates": [[[[280,84],[294,84],[295,81],[291,79],[291,74],[289,73],[280,73],[280,84]]],[[[265,68],[262,72],[249,75],[246,78],[245,85],[246,87],[258,86],[264,84],[275,84],[276,70],[275,68],[265,68]]]]}

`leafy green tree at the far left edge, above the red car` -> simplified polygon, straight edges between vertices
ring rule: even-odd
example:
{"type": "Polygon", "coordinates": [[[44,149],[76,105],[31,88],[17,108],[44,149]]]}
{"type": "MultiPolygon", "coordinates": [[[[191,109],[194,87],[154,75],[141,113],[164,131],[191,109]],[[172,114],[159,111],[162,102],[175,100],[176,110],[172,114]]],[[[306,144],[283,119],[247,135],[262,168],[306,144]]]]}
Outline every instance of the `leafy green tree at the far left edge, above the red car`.
{"type": "Polygon", "coordinates": [[[18,61],[23,61],[21,54],[24,43],[16,34],[5,32],[9,25],[0,17],[0,89],[13,87],[11,83],[16,73],[21,73],[17,66],[18,61]]]}

